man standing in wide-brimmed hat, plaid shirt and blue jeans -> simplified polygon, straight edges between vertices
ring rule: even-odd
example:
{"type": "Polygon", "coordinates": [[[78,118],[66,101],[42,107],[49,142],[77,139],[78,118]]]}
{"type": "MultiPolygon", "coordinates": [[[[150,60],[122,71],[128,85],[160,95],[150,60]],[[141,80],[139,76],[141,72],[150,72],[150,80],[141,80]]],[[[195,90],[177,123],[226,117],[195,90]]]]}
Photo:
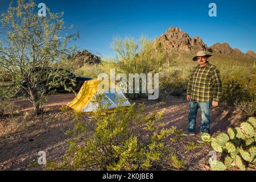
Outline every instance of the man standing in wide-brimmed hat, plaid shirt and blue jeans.
{"type": "Polygon", "coordinates": [[[196,115],[201,110],[201,133],[210,133],[210,106],[218,106],[222,96],[220,72],[208,62],[212,56],[206,51],[199,51],[193,57],[199,65],[193,68],[188,82],[187,100],[189,101],[188,130],[184,135],[195,135],[196,115]]]}

